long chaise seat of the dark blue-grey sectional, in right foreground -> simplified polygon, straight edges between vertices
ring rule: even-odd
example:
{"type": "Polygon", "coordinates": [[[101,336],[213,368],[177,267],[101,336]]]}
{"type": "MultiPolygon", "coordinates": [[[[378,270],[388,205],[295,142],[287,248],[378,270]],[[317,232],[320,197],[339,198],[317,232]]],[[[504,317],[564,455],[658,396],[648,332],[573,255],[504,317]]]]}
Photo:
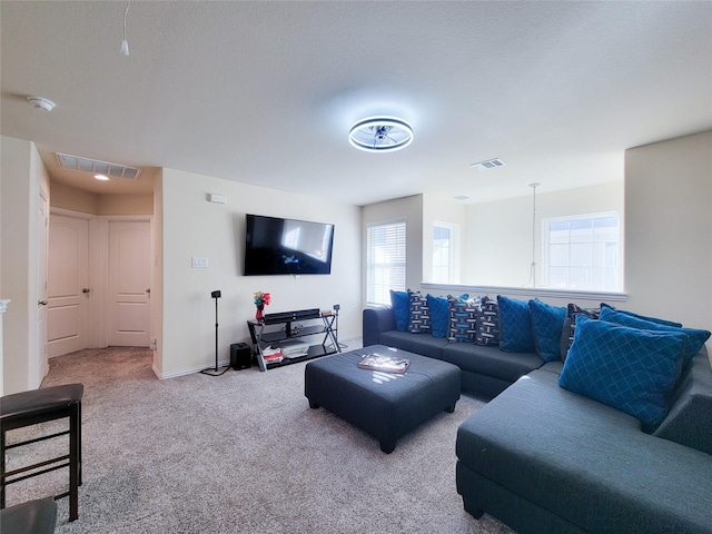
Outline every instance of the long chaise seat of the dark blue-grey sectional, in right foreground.
{"type": "Polygon", "coordinates": [[[534,370],[466,419],[459,462],[586,532],[710,531],[708,454],[644,434],[556,379],[534,370]]]}

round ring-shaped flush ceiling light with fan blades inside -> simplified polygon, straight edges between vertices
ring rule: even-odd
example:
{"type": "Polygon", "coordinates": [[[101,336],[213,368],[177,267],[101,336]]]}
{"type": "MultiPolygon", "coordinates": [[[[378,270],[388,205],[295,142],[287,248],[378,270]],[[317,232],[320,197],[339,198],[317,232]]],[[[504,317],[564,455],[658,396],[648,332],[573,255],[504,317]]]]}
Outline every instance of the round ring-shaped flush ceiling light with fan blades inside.
{"type": "Polygon", "coordinates": [[[413,142],[413,128],[396,117],[368,117],[352,127],[348,141],[367,152],[393,152],[413,142]]]}

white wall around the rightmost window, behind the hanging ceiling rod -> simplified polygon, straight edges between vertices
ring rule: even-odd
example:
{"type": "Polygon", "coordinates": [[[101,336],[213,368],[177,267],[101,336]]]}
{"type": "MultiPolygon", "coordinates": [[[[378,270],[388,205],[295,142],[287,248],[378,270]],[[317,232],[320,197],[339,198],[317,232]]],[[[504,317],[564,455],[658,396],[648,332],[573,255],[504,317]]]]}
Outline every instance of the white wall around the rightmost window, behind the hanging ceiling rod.
{"type": "MultiPolygon", "coordinates": [[[[542,285],[542,218],[601,211],[623,214],[623,181],[565,191],[536,191],[536,285],[542,285]]],[[[532,191],[528,196],[467,207],[463,284],[532,285],[532,191]]],[[[623,216],[625,219],[625,216],[623,216]]]]}

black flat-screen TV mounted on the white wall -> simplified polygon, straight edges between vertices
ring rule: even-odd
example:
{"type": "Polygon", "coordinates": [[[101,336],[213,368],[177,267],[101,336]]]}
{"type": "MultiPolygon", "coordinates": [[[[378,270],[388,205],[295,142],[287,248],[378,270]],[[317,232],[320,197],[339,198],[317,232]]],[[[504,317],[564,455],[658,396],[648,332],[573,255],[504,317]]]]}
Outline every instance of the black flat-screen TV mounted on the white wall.
{"type": "Polygon", "coordinates": [[[245,216],[245,276],[328,275],[334,225],[245,216]]]}

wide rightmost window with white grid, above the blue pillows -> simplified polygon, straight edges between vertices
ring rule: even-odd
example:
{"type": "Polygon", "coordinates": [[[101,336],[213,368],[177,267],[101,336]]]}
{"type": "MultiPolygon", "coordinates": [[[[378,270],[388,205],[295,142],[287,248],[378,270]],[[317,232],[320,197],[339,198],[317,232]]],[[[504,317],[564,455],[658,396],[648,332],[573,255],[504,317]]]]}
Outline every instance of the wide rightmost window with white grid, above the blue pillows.
{"type": "Polygon", "coordinates": [[[543,225],[546,287],[622,289],[617,212],[545,218],[543,225]]]}

